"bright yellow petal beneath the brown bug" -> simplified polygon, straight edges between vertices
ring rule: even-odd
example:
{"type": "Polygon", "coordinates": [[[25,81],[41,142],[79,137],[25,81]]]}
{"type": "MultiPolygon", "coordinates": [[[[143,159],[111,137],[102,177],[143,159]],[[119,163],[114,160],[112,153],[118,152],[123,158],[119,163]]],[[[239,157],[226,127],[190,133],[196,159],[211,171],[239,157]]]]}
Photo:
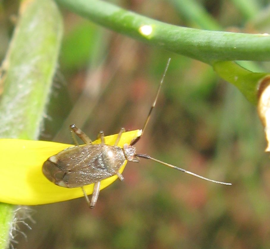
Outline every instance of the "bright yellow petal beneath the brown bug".
{"type": "MultiPolygon", "coordinates": [[[[141,130],[125,132],[118,146],[140,136],[141,130]]],[[[106,136],[105,143],[113,145],[118,134],[106,136]]],[[[93,144],[99,144],[98,139],[93,144]]],[[[50,182],[42,173],[42,165],[52,155],[74,146],[48,141],[0,139],[0,202],[16,205],[39,205],[70,200],[84,196],[81,188],[68,189],[50,182]]],[[[121,167],[122,173],[127,161],[121,167]]],[[[117,179],[117,175],[101,181],[101,189],[117,179]]],[[[92,194],[94,184],[85,186],[92,194]]]]}

